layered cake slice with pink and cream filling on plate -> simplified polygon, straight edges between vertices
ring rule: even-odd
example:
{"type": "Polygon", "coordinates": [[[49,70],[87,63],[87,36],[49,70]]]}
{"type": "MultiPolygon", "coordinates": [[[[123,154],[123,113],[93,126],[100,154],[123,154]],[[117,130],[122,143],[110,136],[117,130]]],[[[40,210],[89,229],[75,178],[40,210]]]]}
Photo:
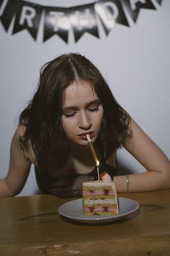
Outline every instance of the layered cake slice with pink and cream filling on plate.
{"type": "Polygon", "coordinates": [[[82,196],[86,216],[119,214],[117,191],[109,174],[104,174],[102,181],[84,182],[82,196]]]}

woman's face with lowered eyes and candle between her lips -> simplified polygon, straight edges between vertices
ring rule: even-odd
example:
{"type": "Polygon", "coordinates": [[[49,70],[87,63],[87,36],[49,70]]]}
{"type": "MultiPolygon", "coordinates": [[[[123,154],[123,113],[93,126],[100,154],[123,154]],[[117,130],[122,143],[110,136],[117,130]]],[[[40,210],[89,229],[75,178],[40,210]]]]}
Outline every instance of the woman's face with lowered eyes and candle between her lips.
{"type": "Polygon", "coordinates": [[[88,82],[78,81],[66,88],[61,123],[69,140],[87,145],[87,134],[92,142],[97,140],[103,114],[103,106],[88,82]]]}

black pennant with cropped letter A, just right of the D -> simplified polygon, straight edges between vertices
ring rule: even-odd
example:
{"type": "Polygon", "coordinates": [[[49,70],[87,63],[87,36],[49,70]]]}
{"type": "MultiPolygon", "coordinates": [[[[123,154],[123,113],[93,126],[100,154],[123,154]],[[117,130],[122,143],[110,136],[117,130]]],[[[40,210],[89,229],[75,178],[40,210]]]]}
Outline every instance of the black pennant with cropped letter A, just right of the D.
{"type": "Polygon", "coordinates": [[[138,19],[138,14],[140,9],[156,9],[151,2],[151,0],[146,0],[145,3],[143,1],[130,1],[130,0],[121,0],[122,3],[125,5],[126,9],[132,17],[133,21],[136,22],[138,19]]]}

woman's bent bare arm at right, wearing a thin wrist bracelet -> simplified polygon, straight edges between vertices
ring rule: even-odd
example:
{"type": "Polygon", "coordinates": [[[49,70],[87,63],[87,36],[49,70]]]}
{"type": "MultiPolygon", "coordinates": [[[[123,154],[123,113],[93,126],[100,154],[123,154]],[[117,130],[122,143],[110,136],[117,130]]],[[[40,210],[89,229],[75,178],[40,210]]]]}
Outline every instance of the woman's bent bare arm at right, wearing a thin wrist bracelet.
{"type": "MultiPolygon", "coordinates": [[[[170,161],[155,142],[131,119],[132,140],[124,145],[144,167],[143,173],[129,175],[130,192],[170,188],[170,161]]],[[[118,192],[127,191],[127,177],[116,176],[118,192]]]]}

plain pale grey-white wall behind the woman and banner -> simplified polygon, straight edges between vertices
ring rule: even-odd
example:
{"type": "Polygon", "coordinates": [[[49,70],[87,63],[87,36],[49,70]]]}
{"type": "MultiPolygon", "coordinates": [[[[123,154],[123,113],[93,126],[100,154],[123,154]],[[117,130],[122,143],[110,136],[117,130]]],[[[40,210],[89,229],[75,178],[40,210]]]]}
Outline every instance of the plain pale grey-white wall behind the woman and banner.
{"type": "MultiPolygon", "coordinates": [[[[68,1],[35,1],[46,6],[67,7],[68,1]]],[[[93,1],[69,1],[69,6],[93,1]]],[[[22,108],[32,98],[40,67],[59,54],[76,51],[99,67],[122,106],[148,135],[170,155],[170,1],[157,10],[142,9],[131,27],[115,25],[108,36],[100,26],[100,39],[85,34],[74,43],[64,43],[57,35],[45,43],[32,39],[27,31],[11,35],[0,22],[0,177],[9,165],[9,147],[22,108]]],[[[118,158],[130,171],[143,171],[125,150],[118,158]]],[[[34,169],[20,195],[36,192],[34,169]]]]}

